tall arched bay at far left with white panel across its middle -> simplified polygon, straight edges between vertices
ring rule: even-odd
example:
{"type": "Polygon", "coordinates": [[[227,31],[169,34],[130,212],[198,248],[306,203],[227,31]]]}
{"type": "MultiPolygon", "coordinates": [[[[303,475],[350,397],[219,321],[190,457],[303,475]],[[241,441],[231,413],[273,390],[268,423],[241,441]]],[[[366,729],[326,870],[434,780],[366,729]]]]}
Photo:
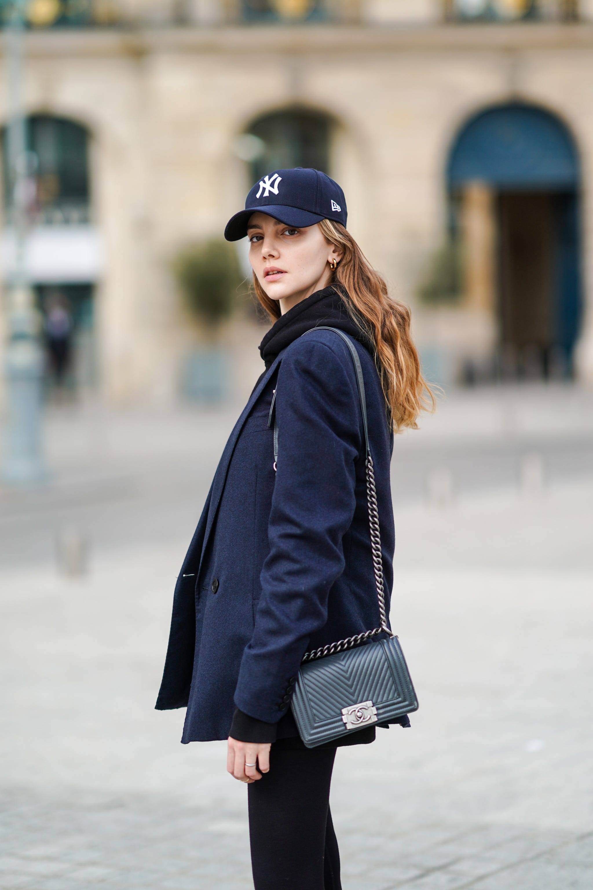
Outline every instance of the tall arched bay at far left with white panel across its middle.
{"type": "MultiPolygon", "coordinates": [[[[10,278],[14,183],[8,140],[4,128],[4,255],[10,278]]],[[[91,218],[89,142],[76,121],[46,114],[27,118],[27,274],[44,315],[48,383],[69,390],[92,386],[96,377],[93,292],[100,247],[91,218]]]]}

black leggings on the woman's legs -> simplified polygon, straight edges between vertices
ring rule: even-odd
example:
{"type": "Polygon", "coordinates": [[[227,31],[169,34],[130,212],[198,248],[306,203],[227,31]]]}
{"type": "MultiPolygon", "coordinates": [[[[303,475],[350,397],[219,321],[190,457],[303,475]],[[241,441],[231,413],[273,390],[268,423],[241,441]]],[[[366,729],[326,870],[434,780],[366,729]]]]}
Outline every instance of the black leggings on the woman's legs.
{"type": "Polygon", "coordinates": [[[341,890],[329,808],[335,752],[272,745],[269,773],[248,786],[255,890],[341,890]]]}

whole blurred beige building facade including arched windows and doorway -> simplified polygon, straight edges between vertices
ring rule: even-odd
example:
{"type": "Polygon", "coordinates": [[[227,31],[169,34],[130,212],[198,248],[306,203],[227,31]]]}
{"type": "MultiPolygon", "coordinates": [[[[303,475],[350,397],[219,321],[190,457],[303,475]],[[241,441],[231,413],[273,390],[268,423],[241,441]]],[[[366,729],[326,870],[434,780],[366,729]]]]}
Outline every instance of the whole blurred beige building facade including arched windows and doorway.
{"type": "MultiPolygon", "coordinates": [[[[593,383],[593,0],[26,8],[29,277],[68,306],[85,384],[175,397],[172,256],[277,166],[341,182],[429,376],[593,383]]],[[[4,175],[4,280],[11,204],[4,175]]]]}

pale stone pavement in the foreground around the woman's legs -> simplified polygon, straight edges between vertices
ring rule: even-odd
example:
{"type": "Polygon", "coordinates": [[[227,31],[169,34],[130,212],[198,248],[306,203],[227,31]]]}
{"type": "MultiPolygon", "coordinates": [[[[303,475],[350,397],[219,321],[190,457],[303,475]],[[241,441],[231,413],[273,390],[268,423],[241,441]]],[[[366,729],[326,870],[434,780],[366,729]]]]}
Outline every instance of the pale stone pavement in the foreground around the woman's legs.
{"type": "MultiPolygon", "coordinates": [[[[86,577],[0,571],[0,887],[252,887],[224,743],[181,746],[183,713],[154,710],[191,529],[126,538],[161,501],[106,498],[120,546],[86,577]]],[[[592,520],[581,471],[397,506],[392,622],[421,709],[338,754],[344,890],[593,886],[592,520]]]]}

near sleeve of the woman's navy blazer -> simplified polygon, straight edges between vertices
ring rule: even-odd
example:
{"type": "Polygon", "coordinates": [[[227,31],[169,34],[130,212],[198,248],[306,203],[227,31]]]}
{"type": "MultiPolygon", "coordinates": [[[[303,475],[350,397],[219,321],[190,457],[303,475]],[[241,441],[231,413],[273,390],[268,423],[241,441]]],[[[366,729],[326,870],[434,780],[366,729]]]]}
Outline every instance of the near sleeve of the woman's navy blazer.
{"type": "Polygon", "coordinates": [[[326,339],[319,332],[292,344],[276,383],[270,551],[235,693],[237,708],[267,723],[284,716],[309,638],[325,626],[356,507],[362,447],[356,377],[346,345],[326,339]]]}

